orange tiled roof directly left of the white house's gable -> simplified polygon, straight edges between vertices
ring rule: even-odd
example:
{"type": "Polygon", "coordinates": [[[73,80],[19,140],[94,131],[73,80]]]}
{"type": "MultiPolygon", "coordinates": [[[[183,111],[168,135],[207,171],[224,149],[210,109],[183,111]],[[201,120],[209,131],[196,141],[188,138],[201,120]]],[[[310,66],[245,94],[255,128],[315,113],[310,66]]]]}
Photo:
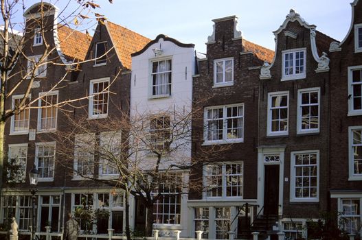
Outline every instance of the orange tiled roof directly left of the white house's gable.
{"type": "Polygon", "coordinates": [[[120,61],[124,67],[131,69],[131,53],[141,50],[150,39],[110,21],[106,21],[106,27],[120,61]]]}

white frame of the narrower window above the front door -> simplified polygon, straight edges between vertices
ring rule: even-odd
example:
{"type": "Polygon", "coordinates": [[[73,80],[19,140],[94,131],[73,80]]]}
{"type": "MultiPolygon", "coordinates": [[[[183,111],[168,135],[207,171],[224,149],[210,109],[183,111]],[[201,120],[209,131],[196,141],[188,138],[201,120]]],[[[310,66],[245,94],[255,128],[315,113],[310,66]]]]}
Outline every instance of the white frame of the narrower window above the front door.
{"type": "MultiPolygon", "coordinates": [[[[283,107],[284,108],[284,107],[283,107]]],[[[280,109],[280,108],[279,108],[280,109]]],[[[282,91],[282,92],[273,92],[273,93],[268,93],[268,112],[267,112],[267,136],[285,136],[289,134],[289,91],[282,91]],[[287,114],[286,114],[286,128],[287,130],[285,131],[272,131],[271,127],[271,98],[275,97],[275,96],[284,96],[286,95],[286,110],[287,110],[287,114]]]]}

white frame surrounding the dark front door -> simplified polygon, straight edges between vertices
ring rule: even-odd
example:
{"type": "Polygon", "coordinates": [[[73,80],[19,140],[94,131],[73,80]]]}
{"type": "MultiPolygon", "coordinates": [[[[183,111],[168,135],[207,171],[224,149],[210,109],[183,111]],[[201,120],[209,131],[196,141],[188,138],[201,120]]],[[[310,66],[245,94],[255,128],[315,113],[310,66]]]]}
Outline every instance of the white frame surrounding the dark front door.
{"type": "MultiPolygon", "coordinates": [[[[279,165],[279,201],[278,215],[283,214],[283,189],[284,189],[284,146],[258,147],[258,213],[264,206],[264,181],[265,165],[279,165]],[[278,161],[267,161],[265,156],[279,156],[278,161]]],[[[264,214],[264,208],[260,212],[264,214]]]]}

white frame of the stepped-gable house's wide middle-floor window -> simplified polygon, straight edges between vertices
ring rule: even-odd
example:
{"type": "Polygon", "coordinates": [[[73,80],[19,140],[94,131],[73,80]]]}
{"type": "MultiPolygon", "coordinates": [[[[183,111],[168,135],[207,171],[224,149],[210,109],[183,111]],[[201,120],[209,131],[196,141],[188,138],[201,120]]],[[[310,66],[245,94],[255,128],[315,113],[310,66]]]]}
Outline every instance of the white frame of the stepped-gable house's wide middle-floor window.
{"type": "Polygon", "coordinates": [[[212,145],[212,144],[228,144],[228,143],[243,143],[244,142],[244,133],[245,133],[245,104],[230,104],[230,105],[220,105],[220,106],[210,106],[204,109],[204,131],[203,131],[203,145],[212,145]],[[242,125],[241,131],[242,131],[242,137],[238,139],[227,139],[227,119],[233,119],[234,117],[227,118],[227,108],[232,107],[242,107],[242,115],[238,116],[242,119],[242,125]],[[218,109],[223,108],[223,139],[218,140],[207,140],[207,133],[208,133],[208,127],[207,127],[207,110],[212,109],[218,109]]]}

